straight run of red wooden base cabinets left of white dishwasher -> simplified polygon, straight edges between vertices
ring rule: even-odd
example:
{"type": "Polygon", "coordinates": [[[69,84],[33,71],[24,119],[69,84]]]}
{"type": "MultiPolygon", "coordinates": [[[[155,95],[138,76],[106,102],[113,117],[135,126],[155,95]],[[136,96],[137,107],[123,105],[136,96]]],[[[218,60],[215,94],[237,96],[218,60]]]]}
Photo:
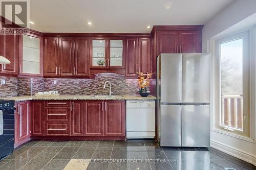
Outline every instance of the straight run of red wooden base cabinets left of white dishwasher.
{"type": "Polygon", "coordinates": [[[125,101],[119,100],[31,102],[31,131],[35,138],[124,137],[124,117],[125,101]]]}

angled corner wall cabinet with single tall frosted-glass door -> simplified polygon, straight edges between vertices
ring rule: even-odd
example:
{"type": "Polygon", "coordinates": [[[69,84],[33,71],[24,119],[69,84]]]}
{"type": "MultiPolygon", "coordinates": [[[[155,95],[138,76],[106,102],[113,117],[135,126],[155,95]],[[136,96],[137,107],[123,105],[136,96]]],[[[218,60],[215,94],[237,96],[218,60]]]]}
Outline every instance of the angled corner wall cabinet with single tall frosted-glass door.
{"type": "Polygon", "coordinates": [[[19,75],[42,76],[42,36],[24,34],[19,36],[19,75]]]}

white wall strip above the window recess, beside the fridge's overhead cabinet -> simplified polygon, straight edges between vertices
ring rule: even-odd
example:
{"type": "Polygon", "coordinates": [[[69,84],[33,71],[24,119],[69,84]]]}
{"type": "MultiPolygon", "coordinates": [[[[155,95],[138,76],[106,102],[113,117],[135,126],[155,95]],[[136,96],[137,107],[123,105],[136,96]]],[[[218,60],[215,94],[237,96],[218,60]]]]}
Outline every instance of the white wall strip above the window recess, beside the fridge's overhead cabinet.
{"type": "Polygon", "coordinates": [[[202,51],[207,52],[208,40],[256,13],[256,0],[236,0],[214,18],[209,20],[202,32],[202,51]]]}

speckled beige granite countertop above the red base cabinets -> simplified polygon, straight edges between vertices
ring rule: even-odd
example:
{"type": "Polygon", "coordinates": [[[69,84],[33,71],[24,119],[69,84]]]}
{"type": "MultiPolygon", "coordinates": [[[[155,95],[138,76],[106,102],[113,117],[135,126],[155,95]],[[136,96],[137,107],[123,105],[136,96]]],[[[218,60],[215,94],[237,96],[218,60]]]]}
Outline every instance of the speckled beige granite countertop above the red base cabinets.
{"type": "Polygon", "coordinates": [[[126,100],[126,101],[153,101],[156,100],[156,97],[153,95],[148,95],[147,97],[143,98],[139,94],[127,94],[127,95],[112,95],[107,96],[99,96],[99,95],[59,95],[54,97],[36,97],[35,95],[30,96],[18,96],[13,98],[4,98],[7,100],[14,100],[15,102],[22,102],[22,101],[31,101],[31,100],[126,100]]]}

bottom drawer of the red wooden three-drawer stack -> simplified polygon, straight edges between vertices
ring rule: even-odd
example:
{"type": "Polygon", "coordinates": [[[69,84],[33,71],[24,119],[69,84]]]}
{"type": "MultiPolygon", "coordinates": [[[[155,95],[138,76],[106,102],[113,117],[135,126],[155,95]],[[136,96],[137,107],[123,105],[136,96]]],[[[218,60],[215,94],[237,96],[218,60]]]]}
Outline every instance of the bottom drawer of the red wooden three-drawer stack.
{"type": "Polygon", "coordinates": [[[63,122],[47,122],[46,123],[46,136],[69,136],[70,123],[63,122]]]}

